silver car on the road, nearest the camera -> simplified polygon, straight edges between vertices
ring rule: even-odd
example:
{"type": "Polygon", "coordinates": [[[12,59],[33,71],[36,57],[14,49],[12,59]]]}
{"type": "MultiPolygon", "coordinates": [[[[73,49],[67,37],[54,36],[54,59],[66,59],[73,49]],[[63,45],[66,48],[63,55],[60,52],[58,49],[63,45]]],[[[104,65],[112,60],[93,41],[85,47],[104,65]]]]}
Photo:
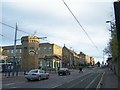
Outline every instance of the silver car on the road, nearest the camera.
{"type": "Polygon", "coordinates": [[[30,70],[28,73],[25,73],[25,78],[30,80],[41,80],[41,79],[49,79],[49,73],[47,73],[45,70],[41,69],[33,69],[30,70]]]}

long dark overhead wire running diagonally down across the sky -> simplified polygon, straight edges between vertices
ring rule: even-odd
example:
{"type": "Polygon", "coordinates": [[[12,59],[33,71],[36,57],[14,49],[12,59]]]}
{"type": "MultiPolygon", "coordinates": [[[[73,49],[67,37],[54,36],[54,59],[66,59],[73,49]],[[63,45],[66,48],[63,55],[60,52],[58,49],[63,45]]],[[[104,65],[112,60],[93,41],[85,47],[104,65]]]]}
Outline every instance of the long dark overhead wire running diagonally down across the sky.
{"type": "Polygon", "coordinates": [[[66,4],[66,2],[64,0],[62,0],[62,1],[63,1],[64,5],[67,7],[67,9],[70,11],[70,13],[72,14],[72,16],[74,17],[74,19],[77,21],[77,23],[79,24],[79,26],[82,28],[82,30],[84,31],[84,33],[87,35],[88,39],[91,41],[91,43],[93,44],[93,46],[99,52],[98,47],[95,45],[95,43],[93,42],[93,40],[90,38],[90,36],[88,35],[88,33],[85,31],[85,29],[83,28],[83,26],[81,25],[81,23],[79,22],[79,20],[76,18],[76,16],[73,14],[73,12],[71,11],[71,9],[69,8],[69,6],[66,4]]]}

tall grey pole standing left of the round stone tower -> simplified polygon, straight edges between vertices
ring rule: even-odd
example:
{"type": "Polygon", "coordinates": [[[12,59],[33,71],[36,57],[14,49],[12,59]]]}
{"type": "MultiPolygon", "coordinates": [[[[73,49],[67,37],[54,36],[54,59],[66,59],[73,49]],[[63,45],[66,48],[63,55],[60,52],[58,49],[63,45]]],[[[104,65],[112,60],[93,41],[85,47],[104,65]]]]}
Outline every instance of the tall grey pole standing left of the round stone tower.
{"type": "Polygon", "coordinates": [[[16,41],[17,41],[17,23],[16,23],[16,28],[15,28],[15,39],[14,39],[14,51],[13,51],[13,76],[14,72],[16,70],[16,41]]]}

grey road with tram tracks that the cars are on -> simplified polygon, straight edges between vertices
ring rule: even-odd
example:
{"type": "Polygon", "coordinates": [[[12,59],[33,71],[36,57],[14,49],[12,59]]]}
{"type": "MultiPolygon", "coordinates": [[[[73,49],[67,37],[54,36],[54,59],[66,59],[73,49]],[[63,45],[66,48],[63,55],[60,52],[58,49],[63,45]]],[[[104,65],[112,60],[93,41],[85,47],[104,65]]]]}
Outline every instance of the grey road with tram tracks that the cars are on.
{"type": "Polygon", "coordinates": [[[68,76],[50,74],[50,78],[41,81],[27,81],[24,76],[10,77],[2,80],[2,88],[96,88],[105,69],[84,69],[83,73],[78,70],[68,76]]]}

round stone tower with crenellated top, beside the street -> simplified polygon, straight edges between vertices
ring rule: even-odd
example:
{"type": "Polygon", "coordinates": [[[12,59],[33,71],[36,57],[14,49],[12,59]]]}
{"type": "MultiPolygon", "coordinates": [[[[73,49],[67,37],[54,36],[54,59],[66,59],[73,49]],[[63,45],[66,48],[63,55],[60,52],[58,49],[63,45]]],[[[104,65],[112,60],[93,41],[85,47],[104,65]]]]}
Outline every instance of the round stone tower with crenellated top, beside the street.
{"type": "Polygon", "coordinates": [[[29,71],[38,68],[38,48],[40,38],[36,36],[24,36],[22,43],[22,70],[29,71]]]}

